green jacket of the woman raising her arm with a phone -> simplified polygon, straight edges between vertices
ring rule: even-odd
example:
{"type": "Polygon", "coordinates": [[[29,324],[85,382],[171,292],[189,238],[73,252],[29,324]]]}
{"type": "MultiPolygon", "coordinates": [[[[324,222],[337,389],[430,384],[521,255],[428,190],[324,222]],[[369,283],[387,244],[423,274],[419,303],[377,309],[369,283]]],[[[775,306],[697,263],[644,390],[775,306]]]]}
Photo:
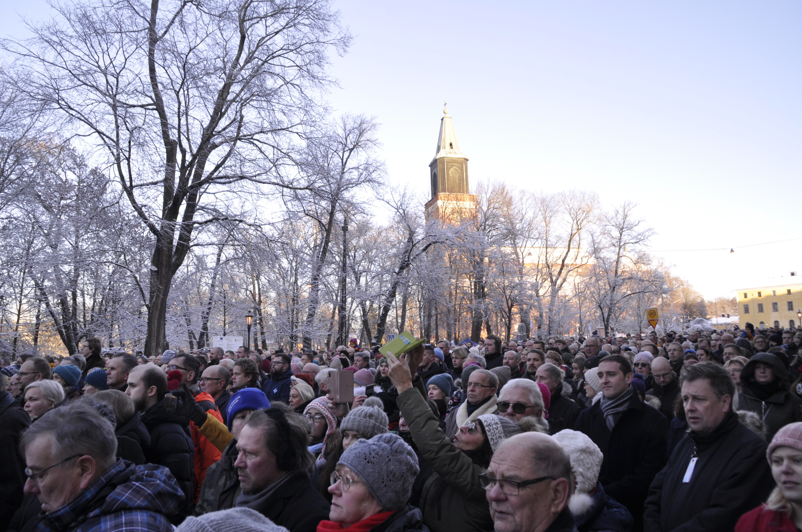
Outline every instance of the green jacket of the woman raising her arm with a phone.
{"type": "Polygon", "coordinates": [[[482,468],[457,449],[423,398],[423,385],[398,397],[401,415],[409,425],[418,452],[435,471],[423,485],[420,510],[431,532],[492,532],[488,500],[479,482],[482,468]]]}

